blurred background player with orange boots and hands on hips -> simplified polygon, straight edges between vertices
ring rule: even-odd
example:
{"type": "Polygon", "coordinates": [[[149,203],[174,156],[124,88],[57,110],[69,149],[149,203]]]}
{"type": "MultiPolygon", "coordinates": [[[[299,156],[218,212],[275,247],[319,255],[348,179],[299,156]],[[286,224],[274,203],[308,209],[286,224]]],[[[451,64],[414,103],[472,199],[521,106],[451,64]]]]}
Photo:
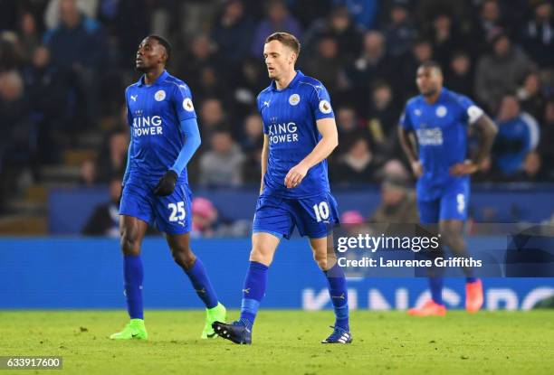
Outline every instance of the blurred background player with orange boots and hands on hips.
{"type": "MultiPolygon", "coordinates": [[[[416,175],[417,209],[422,224],[438,224],[441,240],[457,257],[467,258],[463,222],[467,219],[470,174],[477,172],[489,155],[497,129],[470,98],[443,87],[443,74],[435,61],[417,70],[421,95],[406,103],[398,129],[400,143],[416,175]],[[479,134],[479,146],[467,160],[468,125],[479,134]],[[416,145],[412,133],[415,133],[416,145]]],[[[465,308],[470,313],[482,307],[482,281],[471,267],[463,267],[466,277],[465,308]]],[[[430,270],[432,299],[412,308],[408,314],[444,315],[441,270],[430,270]]]]}

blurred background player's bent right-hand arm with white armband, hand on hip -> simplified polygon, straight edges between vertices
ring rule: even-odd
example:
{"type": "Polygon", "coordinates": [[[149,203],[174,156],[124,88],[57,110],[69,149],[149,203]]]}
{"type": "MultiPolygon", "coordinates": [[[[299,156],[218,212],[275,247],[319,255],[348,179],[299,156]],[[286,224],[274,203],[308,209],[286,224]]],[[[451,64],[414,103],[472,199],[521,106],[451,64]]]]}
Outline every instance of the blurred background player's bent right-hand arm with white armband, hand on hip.
{"type": "MultiPolygon", "coordinates": [[[[468,99],[469,100],[469,99],[468,99]]],[[[475,173],[479,170],[482,162],[491,153],[494,137],[498,133],[498,129],[491,117],[488,117],[481,108],[476,107],[473,103],[468,106],[467,110],[468,122],[473,124],[478,133],[479,144],[477,152],[472,159],[465,163],[454,164],[450,168],[450,173],[456,176],[475,173]]]]}

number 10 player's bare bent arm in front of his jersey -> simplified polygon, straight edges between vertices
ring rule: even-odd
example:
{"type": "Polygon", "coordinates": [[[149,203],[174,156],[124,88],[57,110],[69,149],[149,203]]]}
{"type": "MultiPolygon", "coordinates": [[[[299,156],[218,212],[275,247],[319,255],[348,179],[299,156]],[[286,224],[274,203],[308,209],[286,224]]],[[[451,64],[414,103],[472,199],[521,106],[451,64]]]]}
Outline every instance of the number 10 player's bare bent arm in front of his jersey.
{"type": "Polygon", "coordinates": [[[298,186],[310,168],[326,159],[339,145],[339,132],[334,117],[320,118],[316,121],[316,125],[321,135],[320,142],[310,154],[287,173],[284,183],[289,189],[298,186]]]}

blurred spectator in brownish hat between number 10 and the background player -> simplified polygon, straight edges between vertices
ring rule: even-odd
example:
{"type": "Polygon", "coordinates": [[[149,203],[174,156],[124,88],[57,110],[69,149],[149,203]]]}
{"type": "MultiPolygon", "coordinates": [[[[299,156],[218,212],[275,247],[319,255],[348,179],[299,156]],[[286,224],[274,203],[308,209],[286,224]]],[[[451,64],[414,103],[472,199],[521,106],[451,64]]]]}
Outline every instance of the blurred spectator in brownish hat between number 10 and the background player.
{"type": "Polygon", "coordinates": [[[418,222],[416,193],[408,180],[395,174],[388,175],[381,184],[381,203],[368,219],[369,222],[406,224],[418,222]]]}

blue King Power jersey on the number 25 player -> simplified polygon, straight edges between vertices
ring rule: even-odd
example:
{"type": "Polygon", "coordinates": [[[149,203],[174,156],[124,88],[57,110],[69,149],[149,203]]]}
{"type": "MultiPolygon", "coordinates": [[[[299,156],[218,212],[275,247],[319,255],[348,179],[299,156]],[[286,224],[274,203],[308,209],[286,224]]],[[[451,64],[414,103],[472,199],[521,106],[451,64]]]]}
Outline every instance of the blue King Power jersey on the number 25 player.
{"type": "MultiPolygon", "coordinates": [[[[125,91],[131,128],[129,178],[156,181],[185,143],[180,122],[196,117],[190,89],[164,71],[152,85],[140,80],[125,91]]],[[[186,168],[178,183],[187,183],[186,168]]]]}

